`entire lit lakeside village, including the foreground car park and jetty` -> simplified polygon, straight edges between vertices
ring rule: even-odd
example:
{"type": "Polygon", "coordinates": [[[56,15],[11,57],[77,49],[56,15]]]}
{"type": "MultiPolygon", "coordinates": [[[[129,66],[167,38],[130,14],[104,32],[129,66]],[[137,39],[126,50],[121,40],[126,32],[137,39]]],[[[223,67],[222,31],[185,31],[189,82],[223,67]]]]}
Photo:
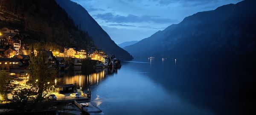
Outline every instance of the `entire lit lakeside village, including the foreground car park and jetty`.
{"type": "MultiPolygon", "coordinates": [[[[121,67],[120,60],[115,58],[115,55],[107,55],[101,49],[78,49],[66,46],[63,51],[55,49],[38,51],[33,46],[23,42],[20,36],[24,36],[24,34],[21,35],[18,29],[10,27],[0,29],[0,72],[8,73],[12,78],[9,85],[14,87],[14,92],[32,88],[28,83],[29,80],[35,80],[35,78],[31,78],[29,64],[31,55],[36,56],[39,52],[45,54],[45,63],[49,63],[48,68],[57,71],[82,71],[84,70],[84,62],[94,62],[92,66],[87,66],[85,69],[121,67]]],[[[38,79],[35,80],[36,82],[38,82],[38,79]]],[[[47,82],[49,86],[44,92],[47,93],[48,99],[52,101],[68,101],[76,105],[76,109],[86,109],[87,112],[91,113],[101,112],[99,108],[90,103],[90,89],[83,92],[81,87],[79,88],[75,84],[57,84],[56,82],[56,79],[55,82],[47,82]]],[[[0,99],[2,96],[0,95],[0,99]]],[[[13,92],[8,93],[7,98],[12,100],[13,96],[15,96],[13,92]]],[[[5,103],[8,103],[8,101],[5,101],[5,103]]]]}

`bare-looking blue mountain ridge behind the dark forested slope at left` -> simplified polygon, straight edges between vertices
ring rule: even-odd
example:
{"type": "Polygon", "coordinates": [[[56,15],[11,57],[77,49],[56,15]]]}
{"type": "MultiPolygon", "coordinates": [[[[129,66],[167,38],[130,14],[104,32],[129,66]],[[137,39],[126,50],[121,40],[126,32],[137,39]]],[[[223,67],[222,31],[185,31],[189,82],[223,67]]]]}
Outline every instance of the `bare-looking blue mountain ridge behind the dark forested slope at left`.
{"type": "Polygon", "coordinates": [[[56,2],[72,17],[76,25],[88,32],[93,42],[99,48],[108,54],[115,54],[121,60],[130,60],[132,56],[116,45],[110,36],[99,26],[99,24],[90,16],[90,14],[81,5],[70,0],[56,0],[56,2]]]}

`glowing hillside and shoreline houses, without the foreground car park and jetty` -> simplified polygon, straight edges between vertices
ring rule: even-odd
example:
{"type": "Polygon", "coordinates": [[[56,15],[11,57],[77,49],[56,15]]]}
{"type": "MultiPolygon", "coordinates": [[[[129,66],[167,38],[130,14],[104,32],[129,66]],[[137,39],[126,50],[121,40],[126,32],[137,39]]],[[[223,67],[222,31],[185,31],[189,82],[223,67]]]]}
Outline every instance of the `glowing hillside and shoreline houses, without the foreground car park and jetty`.
{"type": "MultiPolygon", "coordinates": [[[[37,52],[36,49],[31,51],[31,46],[26,45],[20,40],[18,29],[4,27],[0,29],[0,70],[9,70],[10,75],[17,77],[29,74],[29,55],[31,52],[37,52]]],[[[107,55],[101,49],[76,49],[74,47],[64,47],[64,52],[43,51],[47,55],[47,60],[51,62],[51,67],[55,66],[60,70],[67,70],[73,65],[74,70],[81,70],[81,60],[96,60],[94,69],[106,67],[120,67],[119,60],[114,55],[107,55]],[[70,61],[71,60],[71,61],[70,61]]]]}

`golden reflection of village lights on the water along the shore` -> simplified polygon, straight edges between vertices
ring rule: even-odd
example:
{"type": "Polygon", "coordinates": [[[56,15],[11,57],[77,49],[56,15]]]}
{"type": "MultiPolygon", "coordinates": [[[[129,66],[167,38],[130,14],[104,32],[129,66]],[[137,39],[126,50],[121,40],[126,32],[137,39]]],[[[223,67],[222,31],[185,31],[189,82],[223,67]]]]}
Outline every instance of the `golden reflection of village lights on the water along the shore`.
{"type": "Polygon", "coordinates": [[[58,84],[74,84],[80,86],[83,90],[90,88],[90,86],[98,85],[107,75],[116,74],[117,69],[97,69],[93,73],[76,72],[60,72],[59,77],[55,79],[58,84]]]}

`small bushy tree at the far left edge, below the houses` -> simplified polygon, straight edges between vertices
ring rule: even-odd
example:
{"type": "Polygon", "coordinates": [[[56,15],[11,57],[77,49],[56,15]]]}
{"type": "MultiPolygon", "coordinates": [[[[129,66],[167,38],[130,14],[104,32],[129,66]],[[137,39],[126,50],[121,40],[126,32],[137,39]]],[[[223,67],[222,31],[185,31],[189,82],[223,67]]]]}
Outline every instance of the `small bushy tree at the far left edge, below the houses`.
{"type": "Polygon", "coordinates": [[[9,73],[4,70],[0,70],[0,101],[6,101],[8,99],[7,94],[12,89],[10,81],[11,76],[9,73]]]}

